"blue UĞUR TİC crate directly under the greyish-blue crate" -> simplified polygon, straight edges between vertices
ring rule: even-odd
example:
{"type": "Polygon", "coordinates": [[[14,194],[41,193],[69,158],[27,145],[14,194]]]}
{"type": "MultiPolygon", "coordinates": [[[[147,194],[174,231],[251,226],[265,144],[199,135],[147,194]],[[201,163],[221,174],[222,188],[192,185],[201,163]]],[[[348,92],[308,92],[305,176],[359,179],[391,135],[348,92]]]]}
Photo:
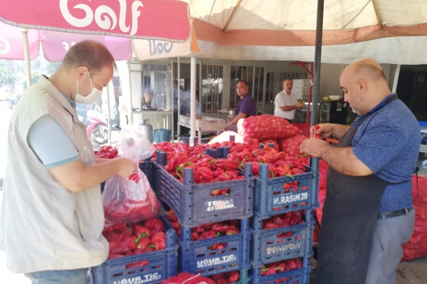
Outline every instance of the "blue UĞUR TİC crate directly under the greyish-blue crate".
{"type": "MultiPolygon", "coordinates": [[[[167,228],[171,228],[167,222],[167,228]]],[[[240,221],[240,233],[202,241],[191,241],[191,228],[182,227],[177,237],[178,271],[209,276],[233,270],[249,270],[249,219],[240,221]],[[227,248],[211,250],[216,243],[227,243],[227,248]]]]}

